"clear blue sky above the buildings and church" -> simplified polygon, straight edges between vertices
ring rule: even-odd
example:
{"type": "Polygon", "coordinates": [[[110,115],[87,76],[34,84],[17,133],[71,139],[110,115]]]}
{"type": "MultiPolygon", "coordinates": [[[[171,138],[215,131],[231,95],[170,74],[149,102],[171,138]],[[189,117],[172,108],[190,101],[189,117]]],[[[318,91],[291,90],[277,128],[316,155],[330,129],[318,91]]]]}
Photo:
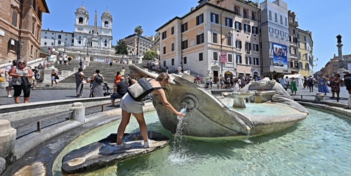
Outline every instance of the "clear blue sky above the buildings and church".
{"type": "MultiPolygon", "coordinates": [[[[50,13],[43,14],[43,29],[73,31],[75,14],[83,0],[46,0],[50,13]],[[62,5],[65,4],[65,5],[62,5]]],[[[262,2],[263,0],[259,0],[262,2]]],[[[342,53],[351,54],[351,1],[349,0],[285,0],[288,9],[295,11],[299,28],[312,31],[313,55],[318,58],[314,71],[319,70],[335,53],[336,35],[342,35],[342,53]],[[337,6],[338,5],[338,6],[337,6]]],[[[154,35],[155,29],[174,16],[183,16],[198,0],[84,0],[89,11],[89,24],[94,23],[95,8],[100,16],[106,7],[113,17],[113,44],[133,34],[141,25],[143,35],[154,35]]]]}

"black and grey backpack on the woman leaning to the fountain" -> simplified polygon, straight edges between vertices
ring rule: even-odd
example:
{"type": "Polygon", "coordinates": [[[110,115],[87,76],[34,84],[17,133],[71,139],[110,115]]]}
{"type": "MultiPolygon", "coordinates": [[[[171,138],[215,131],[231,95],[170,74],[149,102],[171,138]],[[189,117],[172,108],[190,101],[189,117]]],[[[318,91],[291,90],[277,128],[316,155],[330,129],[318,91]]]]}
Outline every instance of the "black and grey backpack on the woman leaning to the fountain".
{"type": "Polygon", "coordinates": [[[128,87],[127,92],[135,101],[141,101],[154,89],[149,82],[150,80],[146,80],[145,77],[140,78],[136,83],[128,87]]]}

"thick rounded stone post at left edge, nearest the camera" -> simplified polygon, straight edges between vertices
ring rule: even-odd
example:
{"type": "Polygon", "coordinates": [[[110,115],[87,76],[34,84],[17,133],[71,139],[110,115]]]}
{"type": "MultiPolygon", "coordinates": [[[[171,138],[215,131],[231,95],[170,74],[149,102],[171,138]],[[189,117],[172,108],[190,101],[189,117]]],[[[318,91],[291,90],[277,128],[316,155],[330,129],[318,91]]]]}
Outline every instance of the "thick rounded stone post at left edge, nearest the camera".
{"type": "Polygon", "coordinates": [[[1,168],[13,163],[13,155],[15,152],[16,129],[11,127],[11,123],[7,119],[0,119],[0,161],[5,158],[6,163],[0,162],[1,168]]]}

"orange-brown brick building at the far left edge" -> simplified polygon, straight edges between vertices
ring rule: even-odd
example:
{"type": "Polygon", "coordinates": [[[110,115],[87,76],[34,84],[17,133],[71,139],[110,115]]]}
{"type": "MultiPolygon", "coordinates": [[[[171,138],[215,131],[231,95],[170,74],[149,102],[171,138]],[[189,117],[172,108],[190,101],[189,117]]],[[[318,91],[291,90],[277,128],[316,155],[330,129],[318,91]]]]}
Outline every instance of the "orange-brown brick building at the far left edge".
{"type": "Polygon", "coordinates": [[[1,1],[0,64],[39,58],[43,12],[49,13],[46,0],[1,1]]]}

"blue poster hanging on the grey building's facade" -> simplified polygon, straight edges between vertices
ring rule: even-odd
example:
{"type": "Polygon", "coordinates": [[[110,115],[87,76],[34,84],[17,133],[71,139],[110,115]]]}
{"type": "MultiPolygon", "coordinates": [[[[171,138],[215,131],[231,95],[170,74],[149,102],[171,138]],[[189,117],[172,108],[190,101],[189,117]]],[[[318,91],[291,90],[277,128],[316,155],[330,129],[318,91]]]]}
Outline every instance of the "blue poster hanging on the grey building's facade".
{"type": "Polygon", "coordinates": [[[279,68],[288,68],[286,45],[273,42],[273,65],[279,68]]]}

